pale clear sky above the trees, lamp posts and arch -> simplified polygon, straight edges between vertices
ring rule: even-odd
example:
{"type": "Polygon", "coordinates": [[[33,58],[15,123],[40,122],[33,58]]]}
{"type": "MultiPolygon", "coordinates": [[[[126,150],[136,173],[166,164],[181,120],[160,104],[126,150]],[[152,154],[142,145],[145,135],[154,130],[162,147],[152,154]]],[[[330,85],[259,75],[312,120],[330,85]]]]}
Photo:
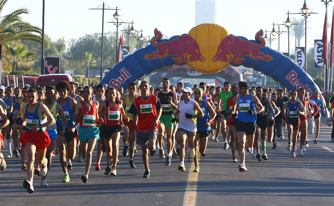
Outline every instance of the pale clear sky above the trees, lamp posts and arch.
{"type": "MultiPolygon", "coordinates": [[[[89,10],[102,5],[103,0],[45,0],[45,34],[52,40],[64,37],[78,39],[85,34],[102,31],[102,10],[89,10]]],[[[269,32],[275,24],[283,24],[287,19],[287,11],[299,13],[303,0],[217,0],[217,24],[226,28],[230,34],[254,39],[255,34],[263,29],[269,32]]],[[[158,28],[162,34],[171,37],[188,33],[195,26],[195,0],[105,0],[105,4],[114,9],[118,7],[120,20],[134,21],[136,30],[143,30],[143,35],[154,36],[158,28]]],[[[306,0],[312,9],[307,22],[307,49],[313,47],[314,39],[321,39],[325,17],[325,5],[320,0],[306,0]]],[[[328,6],[328,23],[332,22],[334,2],[328,6]]],[[[1,16],[19,8],[28,8],[29,15],[22,19],[35,26],[42,27],[42,0],[9,0],[1,16]]],[[[105,10],[104,31],[116,31],[114,10],[105,10]]],[[[300,15],[290,15],[290,18],[304,18],[300,15]]],[[[126,24],[127,26],[127,24],[126,24]]],[[[122,25],[120,26],[120,28],[122,25]]],[[[276,31],[277,31],[276,27],[276,31]]],[[[281,31],[286,28],[281,27],[281,31]]],[[[328,36],[330,37],[330,28],[328,36]]],[[[277,36],[275,36],[276,38],[277,36]]],[[[288,38],[283,33],[280,38],[280,49],[287,52],[288,38]]],[[[305,40],[300,46],[304,46],[305,40]]],[[[290,37],[290,50],[295,47],[295,38],[290,37]]],[[[272,41],[272,48],[278,49],[278,40],[272,41]]]]}

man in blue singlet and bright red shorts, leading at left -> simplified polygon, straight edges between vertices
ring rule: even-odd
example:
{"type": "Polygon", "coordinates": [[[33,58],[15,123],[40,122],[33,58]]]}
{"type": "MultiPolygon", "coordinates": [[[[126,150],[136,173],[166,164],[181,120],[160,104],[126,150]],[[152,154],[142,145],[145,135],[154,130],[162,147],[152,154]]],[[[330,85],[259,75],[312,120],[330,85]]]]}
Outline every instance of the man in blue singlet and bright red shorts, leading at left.
{"type": "Polygon", "coordinates": [[[34,192],[33,171],[36,151],[41,177],[44,178],[47,173],[48,160],[45,158],[45,152],[50,144],[50,137],[45,128],[56,122],[49,109],[44,104],[37,102],[37,98],[37,91],[35,89],[27,91],[28,104],[22,107],[24,115],[22,117],[22,124],[19,125],[19,130],[21,131],[26,128],[20,141],[22,145],[25,145],[28,155],[28,179],[23,182],[23,187],[28,193],[34,192]]]}

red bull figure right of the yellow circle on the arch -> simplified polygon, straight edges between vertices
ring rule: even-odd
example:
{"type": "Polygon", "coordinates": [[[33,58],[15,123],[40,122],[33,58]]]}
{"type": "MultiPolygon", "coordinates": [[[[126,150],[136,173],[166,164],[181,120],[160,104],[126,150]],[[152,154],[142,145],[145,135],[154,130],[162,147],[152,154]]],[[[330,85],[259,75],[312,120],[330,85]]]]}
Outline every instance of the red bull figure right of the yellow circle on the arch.
{"type": "Polygon", "coordinates": [[[253,60],[264,60],[271,61],[273,57],[269,54],[265,55],[260,52],[260,48],[266,46],[265,40],[262,38],[263,30],[260,30],[256,34],[256,39],[261,42],[261,44],[256,44],[246,40],[242,40],[239,37],[228,35],[225,37],[218,46],[217,54],[212,58],[213,62],[230,62],[233,64],[241,64],[245,59],[240,57],[249,56],[253,60]],[[231,46],[232,44],[234,46],[231,46]],[[237,47],[235,45],[238,45],[237,47]]]}

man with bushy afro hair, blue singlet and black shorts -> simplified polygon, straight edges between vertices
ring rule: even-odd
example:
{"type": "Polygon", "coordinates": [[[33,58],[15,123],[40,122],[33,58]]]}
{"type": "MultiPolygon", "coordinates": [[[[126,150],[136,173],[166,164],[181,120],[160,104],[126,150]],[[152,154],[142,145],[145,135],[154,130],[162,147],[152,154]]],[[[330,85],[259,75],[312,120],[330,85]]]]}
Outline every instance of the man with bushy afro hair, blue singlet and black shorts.
{"type": "MultiPolygon", "coordinates": [[[[60,81],[56,85],[56,90],[59,93],[59,98],[57,100],[57,103],[62,107],[63,113],[66,117],[66,129],[65,132],[63,131],[63,124],[65,124],[62,120],[62,117],[58,117],[57,121],[57,131],[58,131],[58,137],[57,137],[57,145],[59,147],[59,159],[60,159],[60,165],[64,172],[64,178],[61,180],[62,182],[69,182],[69,175],[67,173],[67,169],[72,169],[72,163],[71,160],[75,157],[75,142],[78,135],[78,131],[76,129],[79,122],[74,123],[73,117],[74,117],[74,108],[76,105],[76,101],[70,97],[67,96],[68,91],[70,90],[70,84],[66,81],[60,81]],[[66,166],[66,156],[69,160],[67,166],[66,166]]],[[[65,120],[64,120],[65,121],[65,120]]]]}

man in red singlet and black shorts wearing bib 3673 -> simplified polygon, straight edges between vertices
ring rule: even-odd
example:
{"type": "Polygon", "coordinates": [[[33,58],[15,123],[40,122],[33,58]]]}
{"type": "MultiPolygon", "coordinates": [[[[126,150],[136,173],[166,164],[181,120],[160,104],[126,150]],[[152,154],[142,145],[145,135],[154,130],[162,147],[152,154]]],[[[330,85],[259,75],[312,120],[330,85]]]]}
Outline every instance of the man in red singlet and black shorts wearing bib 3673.
{"type": "Polygon", "coordinates": [[[129,117],[124,112],[122,100],[116,100],[116,93],[115,88],[109,88],[107,90],[108,100],[100,102],[99,106],[99,116],[104,119],[100,127],[100,136],[104,140],[107,155],[112,157],[112,162],[107,160],[105,175],[111,172],[111,175],[114,176],[117,175],[118,146],[122,129],[122,117],[120,114],[123,115],[125,121],[129,121],[129,117]]]}

